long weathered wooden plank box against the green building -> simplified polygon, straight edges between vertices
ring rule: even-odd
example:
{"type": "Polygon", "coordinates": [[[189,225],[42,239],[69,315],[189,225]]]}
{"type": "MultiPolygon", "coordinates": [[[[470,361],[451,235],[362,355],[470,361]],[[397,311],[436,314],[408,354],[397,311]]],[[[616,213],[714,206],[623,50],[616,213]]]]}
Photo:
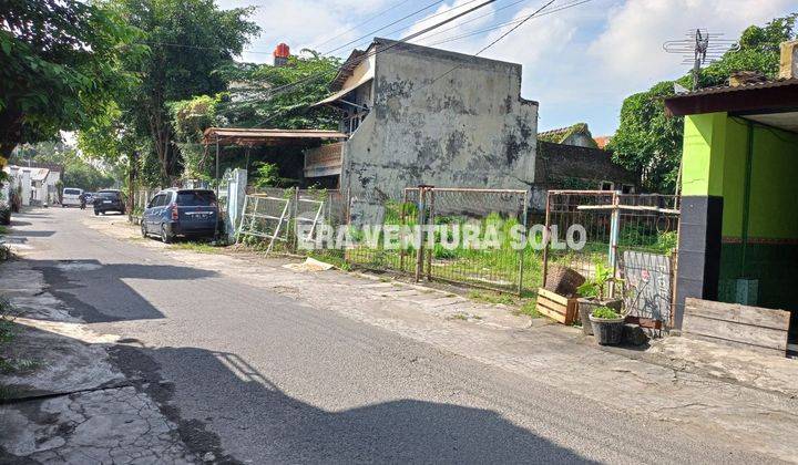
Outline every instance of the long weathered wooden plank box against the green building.
{"type": "Polygon", "coordinates": [[[687,298],[682,332],[686,337],[777,356],[787,353],[790,313],[687,298]]]}

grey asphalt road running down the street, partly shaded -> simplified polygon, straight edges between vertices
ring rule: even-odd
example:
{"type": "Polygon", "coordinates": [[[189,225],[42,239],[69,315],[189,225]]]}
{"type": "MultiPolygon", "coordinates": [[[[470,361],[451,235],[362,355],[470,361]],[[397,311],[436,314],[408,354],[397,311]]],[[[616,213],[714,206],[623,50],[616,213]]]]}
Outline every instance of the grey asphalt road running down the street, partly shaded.
{"type": "MultiPolygon", "coordinates": [[[[19,218],[51,292],[120,369],[217,461],[753,462],[677,425],[595,403],[389,331],[185,267],[82,226],[89,210],[19,218]],[[70,266],[64,267],[68,262],[70,266]]],[[[108,218],[90,218],[103,221],[108,218]]],[[[330,294],[329,299],[336,296],[330,294]]],[[[626,400],[633,402],[634,400],[626,400]]]]}

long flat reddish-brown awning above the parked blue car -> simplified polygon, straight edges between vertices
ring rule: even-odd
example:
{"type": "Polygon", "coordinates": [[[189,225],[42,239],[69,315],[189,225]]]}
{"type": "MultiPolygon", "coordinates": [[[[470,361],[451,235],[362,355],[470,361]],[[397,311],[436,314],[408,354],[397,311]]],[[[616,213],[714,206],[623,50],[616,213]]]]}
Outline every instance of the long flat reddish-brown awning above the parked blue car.
{"type": "Polygon", "coordinates": [[[348,136],[338,131],[327,130],[260,130],[245,127],[208,127],[205,130],[205,145],[285,145],[305,144],[314,141],[346,140],[348,136]]]}

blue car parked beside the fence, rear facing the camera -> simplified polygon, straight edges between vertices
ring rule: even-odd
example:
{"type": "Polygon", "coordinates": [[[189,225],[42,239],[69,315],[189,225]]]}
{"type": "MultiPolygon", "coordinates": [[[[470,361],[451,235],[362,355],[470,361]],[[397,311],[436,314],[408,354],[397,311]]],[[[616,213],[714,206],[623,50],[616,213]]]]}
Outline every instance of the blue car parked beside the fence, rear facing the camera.
{"type": "Polygon", "coordinates": [[[216,194],[171,188],[157,193],[142,215],[142,237],[157,235],[168,244],[177,236],[213,238],[218,227],[216,194]]]}

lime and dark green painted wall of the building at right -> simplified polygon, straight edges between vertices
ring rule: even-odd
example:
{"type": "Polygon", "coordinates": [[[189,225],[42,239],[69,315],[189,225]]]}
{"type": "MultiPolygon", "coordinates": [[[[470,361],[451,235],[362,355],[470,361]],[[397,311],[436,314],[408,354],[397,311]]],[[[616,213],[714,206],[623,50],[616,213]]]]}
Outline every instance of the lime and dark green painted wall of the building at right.
{"type": "Polygon", "coordinates": [[[747,278],[758,280],[758,304],[798,309],[798,135],[754,125],[744,248],[748,131],[725,113],[687,116],[682,193],[724,198],[720,300],[734,301],[737,279],[747,278]]]}

